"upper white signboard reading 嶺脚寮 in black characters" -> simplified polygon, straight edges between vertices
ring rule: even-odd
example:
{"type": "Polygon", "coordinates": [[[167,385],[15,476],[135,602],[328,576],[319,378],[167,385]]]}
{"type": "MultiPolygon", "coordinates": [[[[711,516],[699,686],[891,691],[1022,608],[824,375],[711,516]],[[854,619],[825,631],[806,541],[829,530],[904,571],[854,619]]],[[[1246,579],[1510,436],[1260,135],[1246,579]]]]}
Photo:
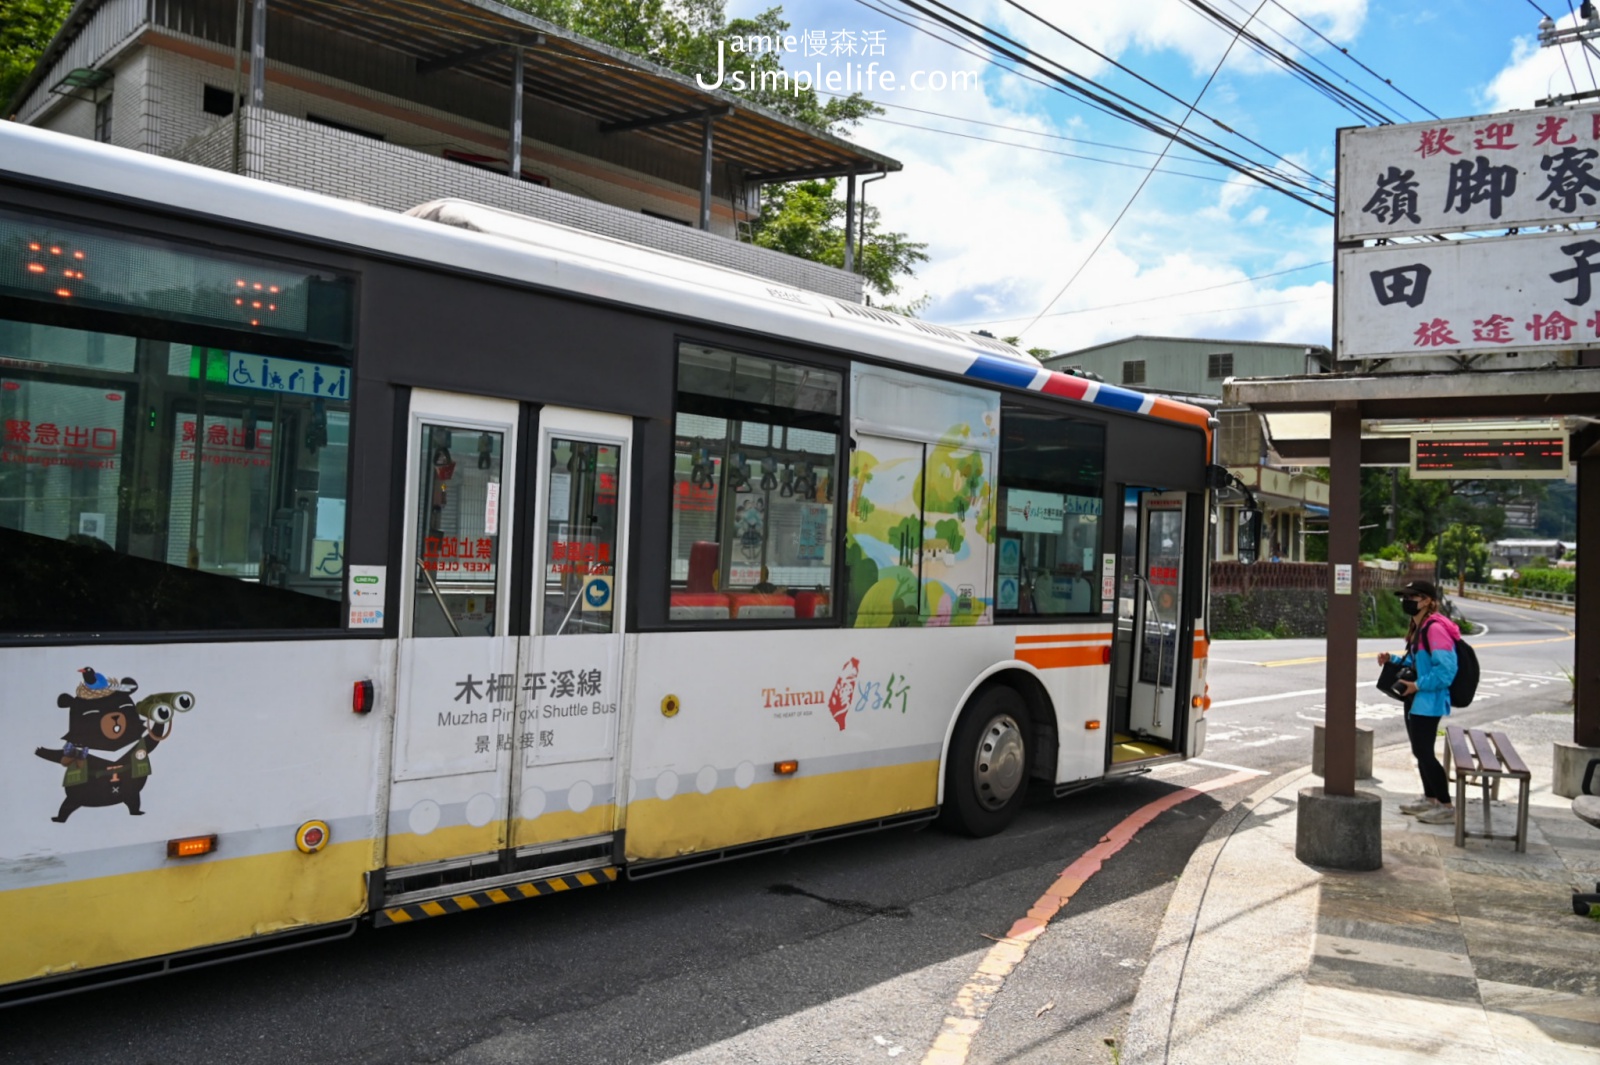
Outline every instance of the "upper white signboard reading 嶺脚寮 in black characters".
{"type": "Polygon", "coordinates": [[[1339,131],[1338,240],[1600,219],[1600,107],[1339,131]]]}

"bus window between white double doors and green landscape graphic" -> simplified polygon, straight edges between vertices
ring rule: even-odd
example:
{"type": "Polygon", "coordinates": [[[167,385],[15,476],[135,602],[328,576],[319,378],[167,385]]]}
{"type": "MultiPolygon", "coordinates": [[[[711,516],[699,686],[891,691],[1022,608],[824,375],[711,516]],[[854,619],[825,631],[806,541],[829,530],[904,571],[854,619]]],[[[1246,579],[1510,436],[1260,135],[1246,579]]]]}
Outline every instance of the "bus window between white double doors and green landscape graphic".
{"type": "Polygon", "coordinates": [[[842,376],[678,345],[678,622],[832,616],[842,376]]]}

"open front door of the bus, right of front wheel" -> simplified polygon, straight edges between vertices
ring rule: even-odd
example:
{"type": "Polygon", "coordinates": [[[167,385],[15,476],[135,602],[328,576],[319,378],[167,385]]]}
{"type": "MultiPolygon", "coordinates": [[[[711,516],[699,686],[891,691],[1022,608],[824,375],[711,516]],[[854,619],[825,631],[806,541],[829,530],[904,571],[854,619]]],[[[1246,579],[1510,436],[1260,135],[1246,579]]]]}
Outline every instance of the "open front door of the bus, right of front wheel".
{"type": "Polygon", "coordinates": [[[1192,646],[1184,625],[1187,496],[1146,488],[1123,493],[1117,648],[1109,769],[1181,756],[1179,702],[1192,646]]]}

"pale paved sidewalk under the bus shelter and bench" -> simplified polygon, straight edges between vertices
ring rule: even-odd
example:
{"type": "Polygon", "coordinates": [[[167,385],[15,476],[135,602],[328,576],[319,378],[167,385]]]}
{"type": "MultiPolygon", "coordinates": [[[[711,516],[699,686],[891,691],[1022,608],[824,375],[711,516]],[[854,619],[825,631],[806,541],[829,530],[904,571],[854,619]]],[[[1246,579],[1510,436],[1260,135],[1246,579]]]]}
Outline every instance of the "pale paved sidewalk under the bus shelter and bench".
{"type": "MultiPolygon", "coordinates": [[[[1600,1065],[1600,921],[1573,891],[1600,880],[1600,830],[1550,795],[1550,745],[1571,718],[1496,723],[1533,769],[1528,851],[1422,825],[1405,745],[1376,753],[1384,867],[1318,872],[1294,857],[1310,771],[1235,806],[1195,851],[1123,1038],[1126,1065],[1600,1065]]],[[[1491,804],[1515,830],[1515,788],[1491,804]],[[1510,800],[1510,801],[1506,801],[1510,800]]],[[[1482,806],[1467,804],[1467,830],[1482,806]]]]}

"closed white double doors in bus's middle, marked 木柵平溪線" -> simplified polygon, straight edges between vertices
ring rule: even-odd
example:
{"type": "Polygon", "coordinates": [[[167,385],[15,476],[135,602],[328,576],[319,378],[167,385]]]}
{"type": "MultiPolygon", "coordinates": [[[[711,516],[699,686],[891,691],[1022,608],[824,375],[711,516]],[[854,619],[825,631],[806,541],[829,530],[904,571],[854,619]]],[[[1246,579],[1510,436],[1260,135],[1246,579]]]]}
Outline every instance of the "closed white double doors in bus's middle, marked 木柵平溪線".
{"type": "Polygon", "coordinates": [[[610,865],[632,425],[546,408],[517,469],[520,413],[411,397],[382,923],[539,876],[592,883],[586,870],[610,865]],[[523,515],[533,579],[518,596],[523,515]],[[514,601],[531,635],[509,635],[514,601]]]}

